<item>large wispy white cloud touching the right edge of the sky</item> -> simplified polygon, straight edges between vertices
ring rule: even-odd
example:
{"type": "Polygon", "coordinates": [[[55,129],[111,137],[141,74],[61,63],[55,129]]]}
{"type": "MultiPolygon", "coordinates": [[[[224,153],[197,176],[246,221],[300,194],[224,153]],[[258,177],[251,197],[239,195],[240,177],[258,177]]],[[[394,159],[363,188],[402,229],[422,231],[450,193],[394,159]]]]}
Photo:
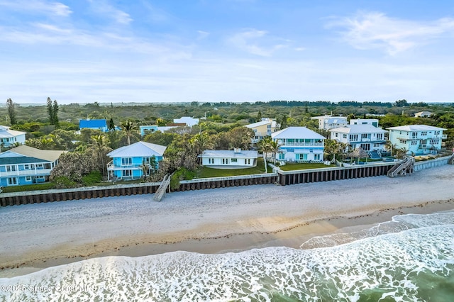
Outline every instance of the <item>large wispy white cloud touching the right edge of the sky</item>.
{"type": "Polygon", "coordinates": [[[389,55],[429,43],[454,30],[454,19],[441,18],[416,22],[389,18],[384,13],[360,12],[353,17],[336,18],[328,28],[345,28],[343,39],[360,50],[382,49],[389,55]]]}

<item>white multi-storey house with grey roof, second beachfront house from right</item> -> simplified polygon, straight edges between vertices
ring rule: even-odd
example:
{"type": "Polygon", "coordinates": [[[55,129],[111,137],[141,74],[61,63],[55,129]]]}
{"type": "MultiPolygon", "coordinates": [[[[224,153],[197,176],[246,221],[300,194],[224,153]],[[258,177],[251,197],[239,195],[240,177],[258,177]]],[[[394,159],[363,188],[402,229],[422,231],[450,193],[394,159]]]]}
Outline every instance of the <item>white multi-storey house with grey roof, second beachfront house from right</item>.
{"type": "Polygon", "coordinates": [[[369,153],[371,158],[380,158],[386,143],[386,130],[377,128],[372,123],[346,125],[345,127],[329,130],[331,140],[344,142],[355,150],[361,148],[369,153]]]}

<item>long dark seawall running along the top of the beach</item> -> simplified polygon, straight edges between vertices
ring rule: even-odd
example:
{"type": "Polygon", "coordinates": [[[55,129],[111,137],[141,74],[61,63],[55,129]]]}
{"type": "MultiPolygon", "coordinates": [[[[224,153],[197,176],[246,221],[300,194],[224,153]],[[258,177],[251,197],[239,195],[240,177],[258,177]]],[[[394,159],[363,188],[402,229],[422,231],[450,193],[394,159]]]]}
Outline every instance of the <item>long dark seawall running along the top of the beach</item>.
{"type": "MultiPolygon", "coordinates": [[[[416,167],[426,169],[446,164],[447,159],[417,163],[416,167]]],[[[180,181],[179,188],[172,191],[193,191],[203,189],[224,188],[229,186],[250,186],[254,184],[305,184],[319,181],[335,181],[341,179],[355,179],[361,177],[376,177],[386,175],[394,162],[380,162],[360,164],[350,167],[326,167],[323,169],[307,169],[296,171],[282,171],[275,169],[274,173],[243,175],[237,177],[214,177],[209,179],[192,179],[180,181]]],[[[417,171],[417,170],[416,170],[417,171]]],[[[110,196],[128,196],[137,194],[153,194],[160,183],[145,184],[116,184],[114,186],[93,186],[77,189],[30,191],[0,194],[0,206],[14,206],[28,203],[46,203],[52,201],[70,201],[87,198],[101,198],[110,196]]]]}

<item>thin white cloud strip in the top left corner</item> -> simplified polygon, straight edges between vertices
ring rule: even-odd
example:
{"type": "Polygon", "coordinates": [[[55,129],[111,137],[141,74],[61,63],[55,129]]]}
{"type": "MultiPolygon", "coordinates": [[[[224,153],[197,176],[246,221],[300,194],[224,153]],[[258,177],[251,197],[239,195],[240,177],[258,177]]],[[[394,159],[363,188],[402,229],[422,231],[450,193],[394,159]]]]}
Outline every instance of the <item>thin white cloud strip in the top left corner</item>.
{"type": "Polygon", "coordinates": [[[60,2],[40,1],[40,0],[16,0],[0,1],[0,6],[26,13],[45,13],[50,16],[70,16],[72,13],[70,6],[60,2]]]}

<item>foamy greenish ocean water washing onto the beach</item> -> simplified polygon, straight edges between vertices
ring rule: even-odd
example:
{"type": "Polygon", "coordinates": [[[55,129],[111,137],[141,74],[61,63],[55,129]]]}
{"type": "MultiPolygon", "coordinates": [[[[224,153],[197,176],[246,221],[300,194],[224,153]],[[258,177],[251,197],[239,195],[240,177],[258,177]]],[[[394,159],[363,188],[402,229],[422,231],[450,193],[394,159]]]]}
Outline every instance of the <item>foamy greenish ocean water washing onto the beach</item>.
{"type": "Polygon", "coordinates": [[[88,259],[0,279],[0,301],[454,301],[454,212],[301,249],[88,259]]]}

